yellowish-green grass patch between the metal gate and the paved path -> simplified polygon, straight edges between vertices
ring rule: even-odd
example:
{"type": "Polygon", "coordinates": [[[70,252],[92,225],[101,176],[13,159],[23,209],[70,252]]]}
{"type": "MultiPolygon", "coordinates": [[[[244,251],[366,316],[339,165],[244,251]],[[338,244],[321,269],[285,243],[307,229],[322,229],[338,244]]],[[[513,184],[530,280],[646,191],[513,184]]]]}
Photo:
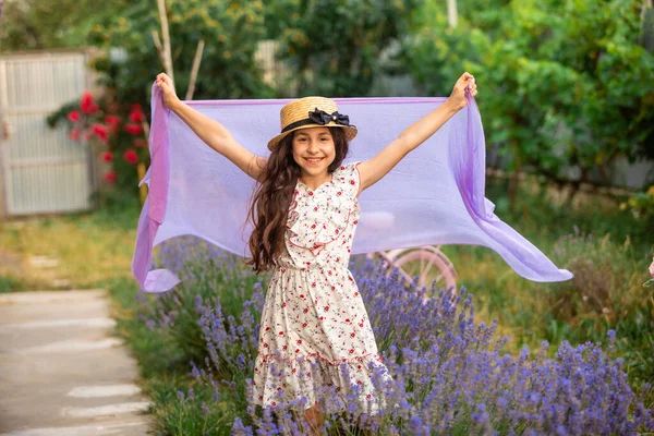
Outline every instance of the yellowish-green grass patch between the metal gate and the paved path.
{"type": "Polygon", "coordinates": [[[21,268],[0,264],[0,276],[22,283],[13,290],[52,289],[55,280],[65,280],[68,289],[93,288],[100,280],[130,277],[137,219],[138,210],[128,208],[5,222],[0,246],[7,257],[21,261],[21,268]],[[59,265],[39,268],[31,263],[34,256],[59,265]]]}

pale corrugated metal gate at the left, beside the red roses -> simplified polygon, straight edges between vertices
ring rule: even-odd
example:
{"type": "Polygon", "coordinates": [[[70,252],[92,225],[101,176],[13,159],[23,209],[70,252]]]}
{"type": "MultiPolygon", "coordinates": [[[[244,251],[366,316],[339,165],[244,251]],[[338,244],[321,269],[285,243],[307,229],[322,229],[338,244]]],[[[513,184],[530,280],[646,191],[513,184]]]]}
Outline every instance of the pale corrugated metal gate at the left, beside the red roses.
{"type": "Polygon", "coordinates": [[[17,216],[92,206],[92,150],[70,140],[65,126],[46,123],[48,114],[88,89],[86,57],[43,52],[0,58],[0,218],[3,208],[4,215],[17,216]]]}

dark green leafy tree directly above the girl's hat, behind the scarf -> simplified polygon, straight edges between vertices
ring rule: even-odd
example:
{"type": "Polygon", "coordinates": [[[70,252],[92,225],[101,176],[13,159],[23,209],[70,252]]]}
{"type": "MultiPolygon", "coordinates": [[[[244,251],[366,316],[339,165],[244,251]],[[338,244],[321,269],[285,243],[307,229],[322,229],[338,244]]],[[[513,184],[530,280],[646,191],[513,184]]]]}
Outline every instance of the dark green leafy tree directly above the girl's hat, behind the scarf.
{"type": "Polygon", "coordinates": [[[366,96],[383,50],[409,28],[419,0],[277,0],[268,36],[280,40],[299,94],[366,96]]]}

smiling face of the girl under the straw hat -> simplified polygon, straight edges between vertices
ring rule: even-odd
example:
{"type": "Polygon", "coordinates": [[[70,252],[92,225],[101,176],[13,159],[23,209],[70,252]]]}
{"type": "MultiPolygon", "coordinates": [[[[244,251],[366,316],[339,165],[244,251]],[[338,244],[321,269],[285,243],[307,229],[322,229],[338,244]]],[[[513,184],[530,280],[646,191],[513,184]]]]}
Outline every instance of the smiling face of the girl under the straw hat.
{"type": "Polygon", "coordinates": [[[293,159],[304,175],[320,175],[336,157],[334,137],[327,128],[300,129],[293,135],[293,159]]]}

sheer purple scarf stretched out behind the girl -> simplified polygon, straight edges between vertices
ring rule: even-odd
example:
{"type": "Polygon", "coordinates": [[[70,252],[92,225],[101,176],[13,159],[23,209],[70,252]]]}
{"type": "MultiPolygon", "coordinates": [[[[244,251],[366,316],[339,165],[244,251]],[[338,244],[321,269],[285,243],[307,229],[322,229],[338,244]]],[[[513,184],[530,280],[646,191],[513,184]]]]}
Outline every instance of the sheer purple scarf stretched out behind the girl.
{"type": "MultiPolygon", "coordinates": [[[[473,244],[497,252],[520,276],[534,281],[572,278],[502,222],[484,196],[486,148],[481,116],[468,106],[360,196],[361,219],[352,254],[435,245],[473,244]]],[[[279,110],[290,100],[187,101],[219,120],[246,148],[267,156],[279,133],[279,110]]],[[[348,161],[366,160],[445,98],[340,98],[339,112],[359,128],[348,161]]],[[[149,270],[153,249],[193,234],[231,253],[250,256],[246,223],[255,181],[209,148],[164,106],[153,85],[150,168],[141,183],[148,197],[138,220],[132,272],[147,292],[179,283],[167,269],[149,270]]]]}

